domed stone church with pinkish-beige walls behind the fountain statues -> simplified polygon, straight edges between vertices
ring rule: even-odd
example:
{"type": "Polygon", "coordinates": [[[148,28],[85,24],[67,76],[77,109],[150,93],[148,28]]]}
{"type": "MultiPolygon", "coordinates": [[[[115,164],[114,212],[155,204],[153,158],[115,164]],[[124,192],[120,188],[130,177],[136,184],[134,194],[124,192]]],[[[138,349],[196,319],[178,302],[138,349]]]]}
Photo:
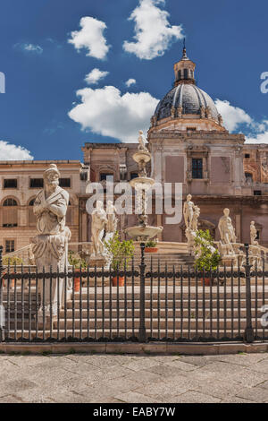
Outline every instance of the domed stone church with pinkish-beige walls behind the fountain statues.
{"type": "MultiPolygon", "coordinates": [[[[181,183],[183,198],[191,193],[200,207],[199,228],[210,229],[216,240],[218,221],[228,207],[238,241],[249,242],[250,221],[255,220],[259,241],[267,246],[268,145],[245,144],[243,134],[224,128],[213,99],[196,85],[195,69],[184,49],[174,64],[174,86],[156,107],[147,133],[151,175],[162,184],[181,183]]],[[[114,181],[130,180],[138,171],[131,159],[136,148],[137,144],[129,143],[86,143],[84,160],[91,181],[104,180],[109,174],[114,181]]],[[[87,198],[80,197],[84,241],[90,238],[87,198]]],[[[185,242],[183,221],[174,226],[165,219],[164,214],[150,217],[150,224],[163,226],[160,239],[185,242]]],[[[121,217],[122,228],[136,223],[135,215],[121,217]]]]}

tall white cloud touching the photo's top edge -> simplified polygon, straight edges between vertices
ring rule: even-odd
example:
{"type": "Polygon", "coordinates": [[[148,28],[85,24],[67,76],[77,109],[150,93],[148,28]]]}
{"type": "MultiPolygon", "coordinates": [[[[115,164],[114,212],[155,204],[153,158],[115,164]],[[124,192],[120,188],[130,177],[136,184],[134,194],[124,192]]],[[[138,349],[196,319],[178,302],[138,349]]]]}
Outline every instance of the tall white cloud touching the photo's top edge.
{"type": "Polygon", "coordinates": [[[182,39],[182,26],[171,25],[169,13],[157,7],[163,0],[139,0],[138,7],[130,14],[135,21],[134,42],[124,41],[123,49],[138,58],[151,60],[163,56],[172,42],[182,39]]]}

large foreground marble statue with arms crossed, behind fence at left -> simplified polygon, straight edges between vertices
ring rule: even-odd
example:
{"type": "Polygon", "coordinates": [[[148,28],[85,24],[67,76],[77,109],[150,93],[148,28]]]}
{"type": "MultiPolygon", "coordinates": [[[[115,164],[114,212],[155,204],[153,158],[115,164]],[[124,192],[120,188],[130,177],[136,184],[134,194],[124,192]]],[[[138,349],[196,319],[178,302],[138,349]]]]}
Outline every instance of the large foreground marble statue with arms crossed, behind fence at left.
{"type": "MultiPolygon", "coordinates": [[[[56,165],[51,164],[44,173],[44,189],[41,190],[34,203],[34,214],[38,219],[38,236],[33,239],[32,252],[35,256],[38,272],[43,268],[46,272],[64,271],[68,268],[68,242],[71,231],[65,227],[65,215],[69,203],[69,193],[59,186],[60,172],[56,165]]],[[[57,314],[57,297],[60,297],[60,307],[63,304],[63,279],[52,279],[50,296],[50,279],[45,279],[45,288],[39,281],[41,307],[39,312],[48,316],[50,303],[52,315],[57,314]],[[59,292],[57,287],[59,286],[59,292]],[[45,290],[44,290],[45,289],[45,290]],[[44,300],[45,294],[45,300],[44,300]]]]}

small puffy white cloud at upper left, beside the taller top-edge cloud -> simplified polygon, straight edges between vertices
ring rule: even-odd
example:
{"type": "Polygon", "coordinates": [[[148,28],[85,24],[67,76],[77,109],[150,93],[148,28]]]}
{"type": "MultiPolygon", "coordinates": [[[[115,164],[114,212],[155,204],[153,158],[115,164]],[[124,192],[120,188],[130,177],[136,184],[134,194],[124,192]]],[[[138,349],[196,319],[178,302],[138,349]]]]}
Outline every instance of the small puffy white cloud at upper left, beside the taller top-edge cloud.
{"type": "Polygon", "coordinates": [[[68,42],[77,50],[87,48],[87,56],[104,59],[110,48],[104,37],[104,30],[107,28],[105,22],[85,16],[80,20],[80,27],[80,30],[71,32],[68,42]]]}

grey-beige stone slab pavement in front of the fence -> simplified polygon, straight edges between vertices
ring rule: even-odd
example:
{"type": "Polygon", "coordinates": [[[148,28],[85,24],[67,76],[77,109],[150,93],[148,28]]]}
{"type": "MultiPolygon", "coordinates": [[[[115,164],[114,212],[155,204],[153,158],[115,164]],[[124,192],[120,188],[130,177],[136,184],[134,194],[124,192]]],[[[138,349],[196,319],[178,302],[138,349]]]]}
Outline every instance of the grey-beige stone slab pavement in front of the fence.
{"type": "Polygon", "coordinates": [[[0,402],[268,402],[268,354],[1,355],[0,402]]]}

